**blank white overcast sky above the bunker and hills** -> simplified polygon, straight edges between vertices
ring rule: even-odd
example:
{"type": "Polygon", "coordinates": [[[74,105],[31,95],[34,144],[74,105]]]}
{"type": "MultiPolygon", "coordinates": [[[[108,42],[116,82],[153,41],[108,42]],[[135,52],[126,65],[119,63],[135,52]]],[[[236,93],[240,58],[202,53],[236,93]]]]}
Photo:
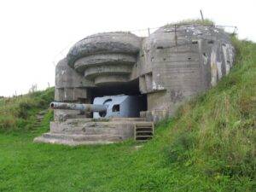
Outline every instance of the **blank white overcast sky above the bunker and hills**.
{"type": "Polygon", "coordinates": [[[256,41],[255,0],[1,0],[0,96],[55,84],[55,65],[79,39],[204,17],[256,41]],[[60,52],[62,51],[62,54],[60,52]]]}

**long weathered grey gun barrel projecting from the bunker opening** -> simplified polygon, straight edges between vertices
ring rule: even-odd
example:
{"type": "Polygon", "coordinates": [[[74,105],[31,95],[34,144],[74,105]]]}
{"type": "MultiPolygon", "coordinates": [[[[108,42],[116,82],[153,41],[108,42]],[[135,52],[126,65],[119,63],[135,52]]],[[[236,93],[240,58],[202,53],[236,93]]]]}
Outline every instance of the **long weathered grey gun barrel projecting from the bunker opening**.
{"type": "Polygon", "coordinates": [[[53,109],[67,109],[67,110],[80,110],[82,112],[105,112],[107,106],[105,105],[93,105],[93,104],[78,104],[67,102],[51,102],[50,108],[53,109]]]}

